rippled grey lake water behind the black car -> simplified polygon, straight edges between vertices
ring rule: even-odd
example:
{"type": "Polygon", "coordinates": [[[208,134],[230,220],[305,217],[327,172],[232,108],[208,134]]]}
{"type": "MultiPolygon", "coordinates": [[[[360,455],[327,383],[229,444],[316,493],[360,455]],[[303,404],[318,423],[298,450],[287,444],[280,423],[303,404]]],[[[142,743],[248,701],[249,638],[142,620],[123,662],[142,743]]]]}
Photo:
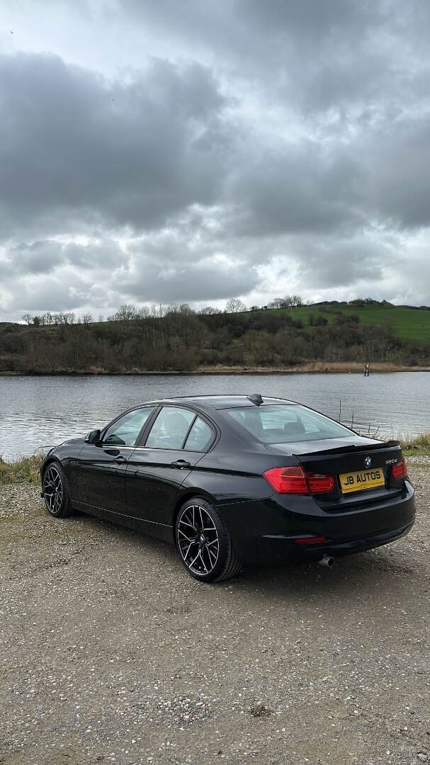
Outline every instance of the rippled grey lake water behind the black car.
{"type": "Polygon", "coordinates": [[[197,393],[281,396],[370,435],[430,431],[430,373],[0,377],[0,454],[32,454],[139,402],[197,393]]]}

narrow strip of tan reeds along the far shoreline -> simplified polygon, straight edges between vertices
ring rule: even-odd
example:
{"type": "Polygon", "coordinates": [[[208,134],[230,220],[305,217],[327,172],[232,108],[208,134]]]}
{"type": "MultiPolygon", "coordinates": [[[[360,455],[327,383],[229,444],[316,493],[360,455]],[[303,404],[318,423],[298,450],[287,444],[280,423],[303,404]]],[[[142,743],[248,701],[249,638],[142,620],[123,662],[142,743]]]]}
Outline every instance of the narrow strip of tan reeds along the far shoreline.
{"type": "MultiPolygon", "coordinates": [[[[375,362],[370,364],[370,376],[395,372],[430,372],[430,366],[403,366],[375,362]]],[[[237,375],[292,375],[292,374],[361,374],[363,364],[350,362],[311,362],[297,366],[213,366],[197,367],[196,369],[121,369],[111,371],[90,367],[90,369],[31,369],[28,371],[0,371],[0,377],[77,377],[77,376],[237,376],[237,375]]]]}

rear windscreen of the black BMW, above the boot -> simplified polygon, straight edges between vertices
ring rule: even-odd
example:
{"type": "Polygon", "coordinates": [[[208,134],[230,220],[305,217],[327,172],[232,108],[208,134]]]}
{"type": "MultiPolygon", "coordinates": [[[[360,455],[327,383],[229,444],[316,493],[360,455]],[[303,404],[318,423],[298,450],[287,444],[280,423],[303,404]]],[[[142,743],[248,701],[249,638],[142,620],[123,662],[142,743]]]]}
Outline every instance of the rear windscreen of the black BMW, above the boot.
{"type": "Polygon", "coordinates": [[[320,438],[346,438],[348,428],[297,404],[246,406],[227,409],[226,415],[262,444],[288,444],[288,441],[318,441],[320,438]]]}

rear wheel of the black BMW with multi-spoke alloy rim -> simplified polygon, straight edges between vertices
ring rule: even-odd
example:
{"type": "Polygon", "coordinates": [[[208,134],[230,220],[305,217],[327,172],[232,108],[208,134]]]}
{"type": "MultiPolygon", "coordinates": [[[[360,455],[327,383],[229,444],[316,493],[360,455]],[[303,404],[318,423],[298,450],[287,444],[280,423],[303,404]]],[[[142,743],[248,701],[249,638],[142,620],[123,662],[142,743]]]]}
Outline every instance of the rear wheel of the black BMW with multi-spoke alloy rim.
{"type": "Polygon", "coordinates": [[[223,581],[242,568],[223,519],[201,497],[193,497],[181,507],[175,533],[182,562],[194,579],[223,581]]]}

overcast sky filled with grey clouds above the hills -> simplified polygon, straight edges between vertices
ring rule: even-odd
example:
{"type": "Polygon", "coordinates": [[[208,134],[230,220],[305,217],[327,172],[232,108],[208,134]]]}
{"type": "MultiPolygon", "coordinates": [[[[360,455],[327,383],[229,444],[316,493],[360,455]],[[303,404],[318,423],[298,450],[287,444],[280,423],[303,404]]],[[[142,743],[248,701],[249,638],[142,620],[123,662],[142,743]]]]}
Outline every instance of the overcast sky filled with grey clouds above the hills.
{"type": "Polygon", "coordinates": [[[430,304],[430,3],[0,5],[0,320],[430,304]]]}

